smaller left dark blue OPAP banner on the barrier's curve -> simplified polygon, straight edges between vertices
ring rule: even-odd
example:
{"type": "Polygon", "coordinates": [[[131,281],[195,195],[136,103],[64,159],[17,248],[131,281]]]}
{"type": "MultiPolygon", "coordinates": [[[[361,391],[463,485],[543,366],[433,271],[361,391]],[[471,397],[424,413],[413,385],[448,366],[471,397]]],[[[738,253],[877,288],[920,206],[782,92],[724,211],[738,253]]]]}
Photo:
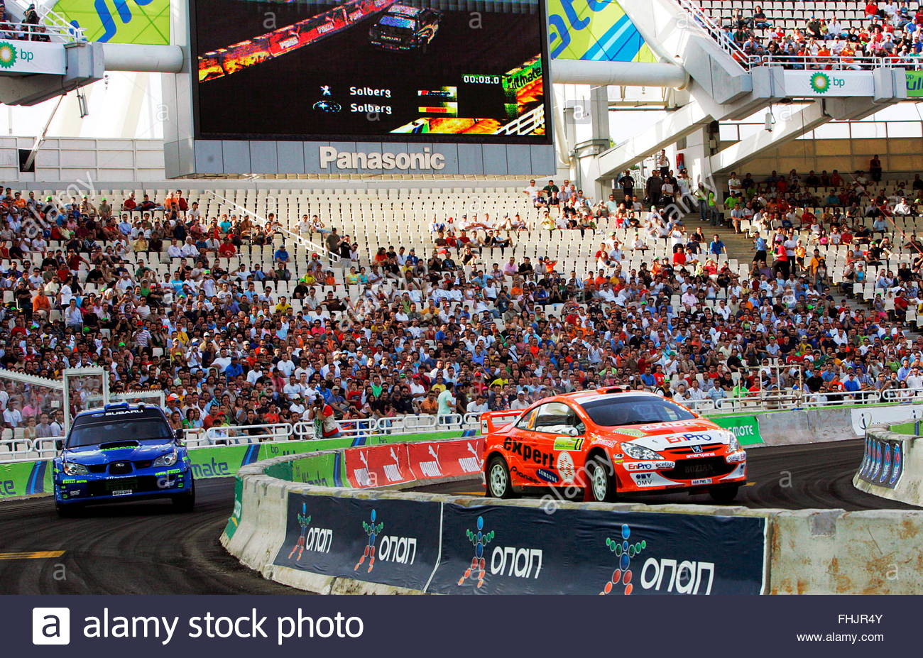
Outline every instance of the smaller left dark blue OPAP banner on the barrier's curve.
{"type": "Polygon", "coordinates": [[[438,503],[289,494],[274,564],[423,590],[438,548],[438,503]]]}

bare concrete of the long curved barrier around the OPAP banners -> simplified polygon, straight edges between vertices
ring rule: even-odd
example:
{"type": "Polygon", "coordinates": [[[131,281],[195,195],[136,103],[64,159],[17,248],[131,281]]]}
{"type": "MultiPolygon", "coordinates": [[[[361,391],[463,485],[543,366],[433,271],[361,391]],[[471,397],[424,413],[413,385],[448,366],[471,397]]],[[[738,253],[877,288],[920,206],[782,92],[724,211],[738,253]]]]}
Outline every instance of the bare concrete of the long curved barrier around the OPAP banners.
{"type": "MultiPolygon", "coordinates": [[[[347,449],[348,450],[348,449],[347,449]]],[[[332,451],[342,453],[343,450],[332,451]]],[[[420,593],[420,590],[382,585],[352,578],[334,578],[303,569],[274,564],[286,540],[288,497],[340,496],[365,500],[432,501],[443,505],[542,508],[538,498],[485,500],[483,497],[442,496],[390,489],[324,487],[270,477],[265,472],[291,457],[245,466],[238,473],[240,487],[236,520],[222,534],[222,544],[247,567],[283,584],[321,593],[420,593]]],[[[342,463],[344,460],[340,460],[342,463]]],[[[450,476],[452,477],[452,476],[450,476]]],[[[427,480],[433,483],[435,480],[427,480]]],[[[410,486],[418,483],[403,483],[410,486]]],[[[845,512],[842,509],[749,509],[707,505],[658,505],[634,503],[556,503],[559,509],[584,509],[677,514],[695,516],[758,518],[766,521],[766,593],[917,593],[923,587],[923,511],[872,510],[845,512]]],[[[233,519],[234,520],[234,519],[233,519]]],[[[683,541],[683,540],[680,540],[683,541]]],[[[646,563],[645,563],[646,565],[646,563]]]]}

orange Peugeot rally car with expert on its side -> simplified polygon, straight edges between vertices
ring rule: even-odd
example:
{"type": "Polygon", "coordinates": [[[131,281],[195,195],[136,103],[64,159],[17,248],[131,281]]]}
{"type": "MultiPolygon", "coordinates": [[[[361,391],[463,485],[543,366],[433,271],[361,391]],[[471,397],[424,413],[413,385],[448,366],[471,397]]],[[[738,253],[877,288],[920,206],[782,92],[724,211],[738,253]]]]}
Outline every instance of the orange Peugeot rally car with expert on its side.
{"type": "Polygon", "coordinates": [[[522,413],[484,413],[482,425],[487,495],[497,498],[552,486],[596,501],[683,489],[729,502],[747,479],[733,432],[645,391],[556,395],[522,413]]]}

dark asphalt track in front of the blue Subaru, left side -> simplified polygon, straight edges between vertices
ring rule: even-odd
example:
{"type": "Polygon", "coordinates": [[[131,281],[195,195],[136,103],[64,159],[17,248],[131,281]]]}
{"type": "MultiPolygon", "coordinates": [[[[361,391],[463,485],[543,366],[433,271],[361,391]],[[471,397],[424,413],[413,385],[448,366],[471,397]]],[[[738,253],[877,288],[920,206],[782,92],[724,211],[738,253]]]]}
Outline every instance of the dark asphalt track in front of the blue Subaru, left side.
{"type": "Polygon", "coordinates": [[[228,555],[218,537],[234,478],[199,480],[187,514],[170,501],[88,508],[59,519],[51,496],[0,502],[0,593],[291,594],[228,555]],[[62,556],[11,553],[64,551],[62,556]]]}

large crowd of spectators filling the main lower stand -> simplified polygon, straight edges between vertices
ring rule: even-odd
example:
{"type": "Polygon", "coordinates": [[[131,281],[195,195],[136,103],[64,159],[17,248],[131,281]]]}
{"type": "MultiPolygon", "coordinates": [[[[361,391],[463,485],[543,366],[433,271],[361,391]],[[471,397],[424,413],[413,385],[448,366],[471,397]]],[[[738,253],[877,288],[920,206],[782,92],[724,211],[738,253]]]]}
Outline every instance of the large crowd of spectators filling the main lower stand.
{"type": "MultiPolygon", "coordinates": [[[[835,398],[923,384],[923,341],[907,345],[899,314],[834,301],[822,264],[797,241],[789,267],[767,266],[759,256],[768,248],[757,241],[752,271],[734,271],[718,234],[688,231],[681,213],[663,209],[665,197],[695,198],[679,182],[685,173],[673,176],[667,163],[655,178],[639,188],[641,201],[632,179],[619,183],[621,198],[595,204],[577,204],[572,185],[562,195],[554,182],[530,182],[523,192],[533,217],[462,218],[451,241],[437,220],[430,253],[382,246],[368,270],[358,245],[332,227],[336,218],[290,226],[320,233],[331,252],[356,260],[336,272],[318,255],[292,263],[275,218],[205,218],[180,192],[114,208],[107,199],[38,200],[7,188],[0,290],[13,300],[0,309],[9,327],[0,365],[54,379],[66,367],[102,365],[114,392],[161,389],[177,428],[304,421],[318,436],[363,418],[515,410],[610,385],[721,403],[767,391],[835,398]],[[547,218],[567,228],[570,205],[589,209],[579,214],[593,223],[584,241],[592,269],[562,267],[541,247],[507,259],[509,245],[486,242],[538,231],[547,218]],[[624,244],[627,228],[637,234],[632,244],[624,244]],[[664,247],[671,256],[661,256],[664,247]],[[504,258],[495,260],[495,249],[504,258]],[[268,271],[250,259],[265,250],[268,271]],[[472,252],[477,258],[466,261],[472,252]],[[241,264],[232,269],[235,255],[241,264]]],[[[810,187],[797,178],[732,176],[729,216],[741,204],[752,209],[750,220],[766,218],[772,242],[787,250],[796,228],[785,226],[788,206],[810,187]]],[[[917,298],[918,272],[917,263],[896,277],[917,298]]],[[[41,387],[7,383],[0,407],[6,427],[60,431],[60,410],[42,400],[41,387]]]]}

